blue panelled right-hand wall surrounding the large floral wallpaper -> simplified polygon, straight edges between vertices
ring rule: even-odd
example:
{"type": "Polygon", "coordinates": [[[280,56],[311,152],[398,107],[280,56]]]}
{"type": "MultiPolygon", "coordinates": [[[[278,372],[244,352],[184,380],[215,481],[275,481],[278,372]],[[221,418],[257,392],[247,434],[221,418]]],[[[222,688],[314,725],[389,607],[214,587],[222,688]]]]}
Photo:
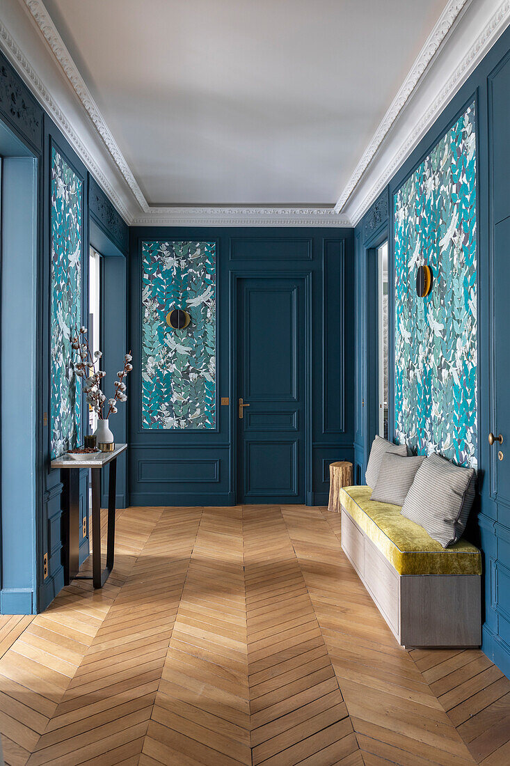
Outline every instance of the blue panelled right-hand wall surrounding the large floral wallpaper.
{"type": "MultiPolygon", "coordinates": [[[[485,56],[459,93],[446,106],[427,131],[409,159],[391,179],[381,197],[372,205],[355,230],[355,323],[356,323],[356,398],[355,398],[355,466],[359,481],[364,480],[368,448],[377,427],[377,324],[372,307],[377,306],[376,262],[374,248],[394,230],[392,220],[395,192],[427,156],[446,130],[474,100],[477,115],[478,178],[478,290],[479,290],[479,496],[469,521],[466,536],[480,545],[484,562],[484,605],[482,649],[510,676],[510,601],[505,583],[510,581],[510,498],[498,492],[494,448],[489,448],[489,430],[502,430],[508,424],[496,425],[493,331],[497,332],[498,316],[493,313],[495,229],[508,220],[508,120],[510,119],[510,31],[505,31],[485,56]]],[[[508,244],[505,245],[508,250],[508,244]]],[[[506,252],[505,250],[505,252],[506,252]]],[[[496,253],[496,257],[501,254],[496,253]]],[[[390,237],[388,264],[390,295],[390,339],[394,338],[394,252],[390,237]]],[[[506,332],[506,330],[505,330],[506,332]]],[[[394,343],[389,344],[390,370],[394,370],[394,343]]],[[[510,371],[508,371],[510,372],[510,371]]],[[[499,381],[505,394],[508,383],[499,381]]],[[[394,381],[390,391],[390,433],[394,434],[394,381]]],[[[502,463],[502,466],[505,465],[502,463]]],[[[507,469],[508,470],[508,469],[507,469]]],[[[501,483],[501,480],[500,480],[501,483]]]]}

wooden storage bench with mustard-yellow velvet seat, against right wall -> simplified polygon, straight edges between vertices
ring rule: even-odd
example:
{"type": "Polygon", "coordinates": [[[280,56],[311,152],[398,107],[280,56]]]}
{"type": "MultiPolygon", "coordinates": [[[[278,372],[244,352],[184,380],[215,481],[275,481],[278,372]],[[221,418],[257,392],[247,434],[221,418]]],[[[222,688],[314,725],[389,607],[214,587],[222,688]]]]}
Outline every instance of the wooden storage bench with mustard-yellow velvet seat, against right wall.
{"type": "Polygon", "coordinates": [[[404,647],[478,647],[482,557],[459,540],[443,548],[400,506],[368,486],[341,490],[342,548],[404,647]]]}

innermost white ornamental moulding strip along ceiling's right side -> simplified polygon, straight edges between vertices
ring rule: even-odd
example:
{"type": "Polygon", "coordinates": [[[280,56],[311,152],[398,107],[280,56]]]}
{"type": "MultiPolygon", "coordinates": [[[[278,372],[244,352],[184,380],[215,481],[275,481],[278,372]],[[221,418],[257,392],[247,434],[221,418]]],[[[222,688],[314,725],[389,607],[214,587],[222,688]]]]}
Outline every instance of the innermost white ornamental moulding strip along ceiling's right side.
{"type": "Polygon", "coordinates": [[[381,143],[387,136],[391,126],[394,124],[400,112],[404,109],[411,93],[413,93],[417,87],[423,73],[427,70],[430,61],[432,61],[435,56],[440,44],[446,38],[446,34],[448,34],[456,19],[459,17],[460,12],[463,11],[463,8],[468,5],[469,2],[471,2],[471,0],[449,0],[449,2],[447,2],[443,13],[436,21],[436,25],[430,32],[427,41],[423,45],[417,59],[414,61],[413,66],[407,74],[404,83],[402,83],[400,90],[391,102],[390,108],[387,110],[378,129],[375,131],[374,136],[365,149],[358,165],[356,165],[355,172],[353,172],[351,178],[349,178],[344,191],[342,191],[342,195],[338,198],[335,205],[335,209],[338,212],[342,211],[345,207],[348,198],[360,182],[361,176],[365,173],[365,170],[374,158],[375,152],[377,152],[379,146],[381,146],[381,143]]]}

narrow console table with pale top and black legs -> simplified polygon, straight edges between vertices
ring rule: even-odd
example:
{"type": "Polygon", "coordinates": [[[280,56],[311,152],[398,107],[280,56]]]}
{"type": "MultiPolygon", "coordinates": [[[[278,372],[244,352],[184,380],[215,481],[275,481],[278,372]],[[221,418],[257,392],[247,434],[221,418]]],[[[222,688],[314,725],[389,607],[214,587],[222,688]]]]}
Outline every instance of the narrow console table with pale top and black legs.
{"type": "MultiPolygon", "coordinates": [[[[64,584],[76,578],[80,568],[80,470],[90,468],[92,476],[92,581],[94,588],[103,588],[113,569],[115,552],[115,495],[117,457],[127,450],[127,444],[117,444],[113,452],[102,452],[90,460],[73,460],[62,455],[51,460],[51,468],[60,468],[64,484],[64,584]],[[106,567],[101,570],[101,471],[108,471],[108,534],[106,539],[106,567]]],[[[88,489],[87,489],[88,508],[88,489]]]]}

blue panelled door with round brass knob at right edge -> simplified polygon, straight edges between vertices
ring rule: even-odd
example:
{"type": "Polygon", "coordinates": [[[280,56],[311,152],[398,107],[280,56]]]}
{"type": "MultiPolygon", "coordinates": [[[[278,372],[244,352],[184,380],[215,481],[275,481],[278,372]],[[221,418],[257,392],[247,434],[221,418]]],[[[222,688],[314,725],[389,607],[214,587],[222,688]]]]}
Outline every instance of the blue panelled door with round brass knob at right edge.
{"type": "Polygon", "coordinates": [[[489,82],[489,149],[492,257],[480,253],[480,380],[482,387],[479,453],[481,514],[479,529],[485,565],[483,648],[510,677],[510,54],[489,82]],[[483,297],[483,293],[482,293],[483,297]],[[487,339],[487,347],[484,341],[487,339]],[[502,437],[490,441],[488,436],[502,437]]]}

